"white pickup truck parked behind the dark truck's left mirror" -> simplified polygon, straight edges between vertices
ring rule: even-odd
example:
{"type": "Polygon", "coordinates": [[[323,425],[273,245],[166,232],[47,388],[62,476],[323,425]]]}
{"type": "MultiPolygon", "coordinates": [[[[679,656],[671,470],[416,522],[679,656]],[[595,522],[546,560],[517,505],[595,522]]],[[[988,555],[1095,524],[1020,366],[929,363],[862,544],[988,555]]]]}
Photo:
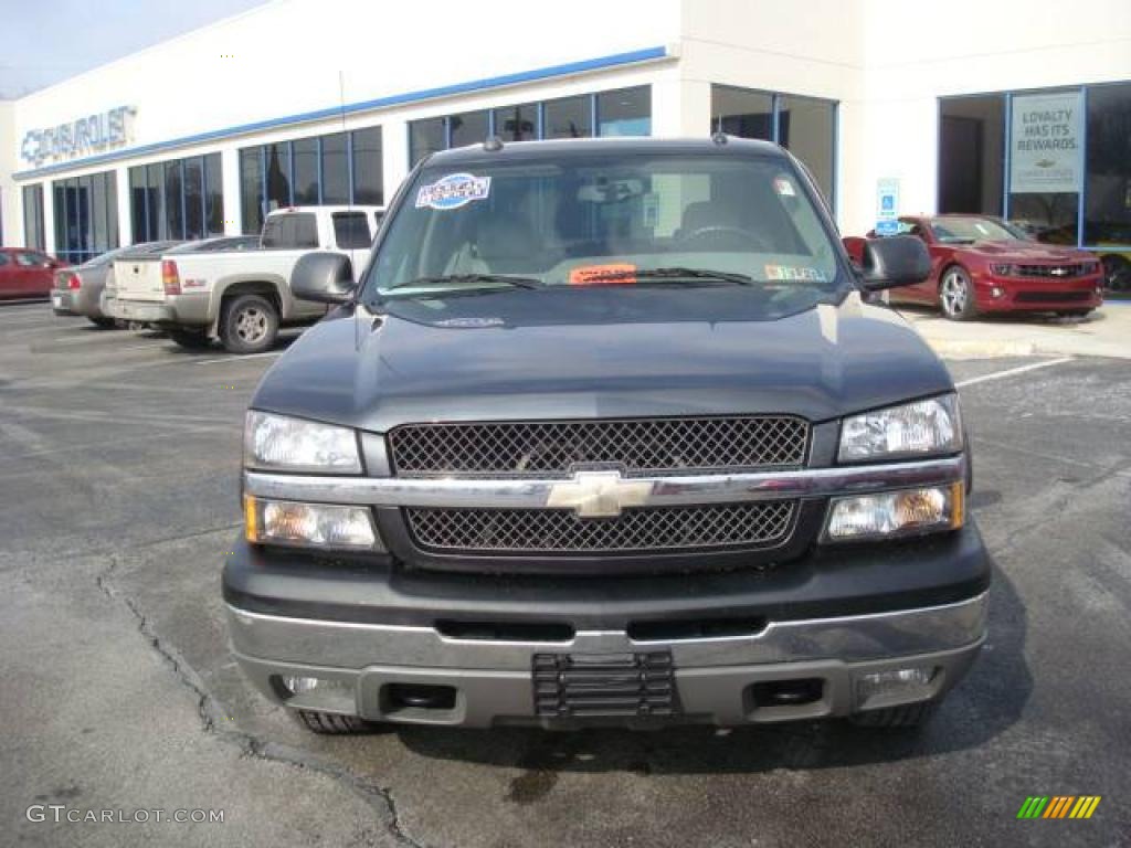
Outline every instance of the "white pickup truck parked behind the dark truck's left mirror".
{"type": "Polygon", "coordinates": [[[283,325],[318,320],[326,305],[291,293],[291,271],[311,251],[349,257],[356,272],[383,214],[375,206],[278,209],[264,222],[260,250],[127,257],[114,268],[102,311],[166,330],[182,347],[218,338],[238,354],[266,351],[283,325]]]}

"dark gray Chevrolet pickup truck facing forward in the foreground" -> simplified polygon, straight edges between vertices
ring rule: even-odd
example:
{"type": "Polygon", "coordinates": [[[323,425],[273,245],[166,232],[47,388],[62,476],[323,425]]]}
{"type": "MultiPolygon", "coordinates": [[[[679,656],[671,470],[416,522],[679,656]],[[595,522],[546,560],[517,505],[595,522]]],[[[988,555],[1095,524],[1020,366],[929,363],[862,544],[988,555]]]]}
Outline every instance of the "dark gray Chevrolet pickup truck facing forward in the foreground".
{"type": "Polygon", "coordinates": [[[723,136],[406,180],[248,412],[234,651],[314,730],[921,722],[985,639],[947,369],[805,170],[723,136]]]}

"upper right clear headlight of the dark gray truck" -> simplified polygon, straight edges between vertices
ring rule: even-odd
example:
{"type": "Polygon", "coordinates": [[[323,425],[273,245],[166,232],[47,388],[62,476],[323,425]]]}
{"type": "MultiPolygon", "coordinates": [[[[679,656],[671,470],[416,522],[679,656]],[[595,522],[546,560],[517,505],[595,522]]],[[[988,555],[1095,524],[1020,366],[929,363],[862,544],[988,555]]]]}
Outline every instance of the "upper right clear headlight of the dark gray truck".
{"type": "Polygon", "coordinates": [[[930,400],[852,415],[840,426],[841,462],[956,453],[962,449],[958,397],[930,400]]]}

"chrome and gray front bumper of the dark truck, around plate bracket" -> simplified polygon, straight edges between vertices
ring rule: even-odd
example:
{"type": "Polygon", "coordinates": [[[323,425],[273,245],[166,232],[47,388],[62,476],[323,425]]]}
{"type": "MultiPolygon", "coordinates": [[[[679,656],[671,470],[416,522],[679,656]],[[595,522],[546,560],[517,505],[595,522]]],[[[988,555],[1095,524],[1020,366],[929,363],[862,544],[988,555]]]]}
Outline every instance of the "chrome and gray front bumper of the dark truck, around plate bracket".
{"type": "MultiPolygon", "coordinates": [[[[640,641],[624,631],[579,631],[569,641],[452,639],[428,626],[288,618],[228,606],[236,658],[251,681],[293,708],[371,720],[486,727],[561,724],[536,717],[535,655],[625,655],[667,651],[680,713],[718,725],[844,716],[940,698],[974,661],[985,639],[985,592],[957,604],[835,618],[769,622],[741,637],[640,641]],[[864,674],[930,667],[931,683],[904,693],[863,698],[864,674]],[[313,677],[312,691],[291,694],[285,677],[313,677]],[[797,706],[757,706],[754,684],[820,681],[821,695],[797,706]],[[394,684],[448,686],[449,709],[390,707],[394,684]]],[[[632,724],[631,721],[629,724],[632,724]]]]}

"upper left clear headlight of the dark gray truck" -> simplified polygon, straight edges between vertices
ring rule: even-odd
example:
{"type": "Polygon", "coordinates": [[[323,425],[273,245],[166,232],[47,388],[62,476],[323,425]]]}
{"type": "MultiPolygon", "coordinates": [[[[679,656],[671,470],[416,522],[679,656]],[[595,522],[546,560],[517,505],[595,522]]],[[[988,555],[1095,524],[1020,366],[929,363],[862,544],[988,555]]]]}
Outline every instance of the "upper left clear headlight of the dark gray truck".
{"type": "Polygon", "coordinates": [[[357,435],[349,427],[248,410],[243,464],[280,471],[361,474],[357,435]]]}

